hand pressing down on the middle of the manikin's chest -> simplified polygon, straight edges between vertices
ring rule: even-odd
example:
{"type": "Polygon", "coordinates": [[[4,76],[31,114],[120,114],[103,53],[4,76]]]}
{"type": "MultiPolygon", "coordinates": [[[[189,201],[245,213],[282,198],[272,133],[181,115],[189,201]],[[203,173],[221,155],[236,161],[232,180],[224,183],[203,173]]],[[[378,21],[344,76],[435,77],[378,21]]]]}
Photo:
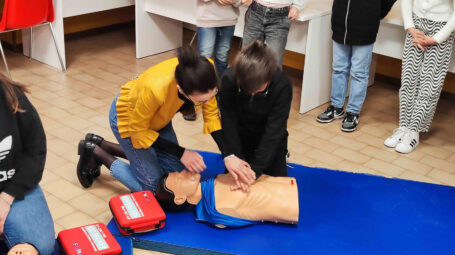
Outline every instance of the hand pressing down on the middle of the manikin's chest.
{"type": "Polygon", "coordinates": [[[256,180],[256,173],[251,169],[250,165],[238,157],[226,157],[224,158],[224,164],[234,178],[236,185],[242,187],[243,190],[246,190],[256,180]]]}

